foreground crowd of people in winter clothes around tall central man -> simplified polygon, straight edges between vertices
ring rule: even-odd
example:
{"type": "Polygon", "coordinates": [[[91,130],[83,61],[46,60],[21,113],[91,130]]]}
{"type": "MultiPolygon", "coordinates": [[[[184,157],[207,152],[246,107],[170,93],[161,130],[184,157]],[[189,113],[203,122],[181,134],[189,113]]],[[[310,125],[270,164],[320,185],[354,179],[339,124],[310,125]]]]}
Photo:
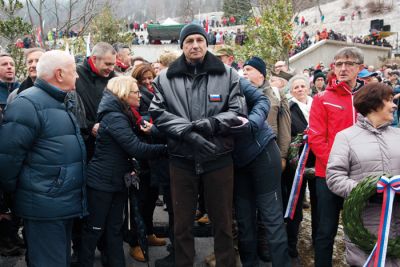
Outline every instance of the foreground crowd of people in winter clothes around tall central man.
{"type": "MultiPolygon", "coordinates": [[[[258,56],[239,67],[232,47],[208,51],[198,24],[179,41],[181,54],[156,62],[121,43],[95,44],[78,65],[65,51],[26,49],[22,83],[0,54],[1,255],[26,249],[28,266],[93,266],[97,247],[103,266],[124,267],[126,242],[148,261],[148,246],[167,244],[153,226],[162,194],[171,245],[155,266],[193,266],[198,219],[212,223],[217,266],[235,266],[235,238],[243,266],[292,266],[308,187],[315,266],[332,266],[344,199],[366,176],[400,171],[397,66],[377,71],[344,47],[329,68],[296,74],[258,56]],[[303,149],[290,147],[304,133],[315,175],[284,218],[303,149]]],[[[382,201],[363,215],[372,234],[382,201]]],[[[345,244],[348,264],[363,266],[369,252],[345,244]]]]}

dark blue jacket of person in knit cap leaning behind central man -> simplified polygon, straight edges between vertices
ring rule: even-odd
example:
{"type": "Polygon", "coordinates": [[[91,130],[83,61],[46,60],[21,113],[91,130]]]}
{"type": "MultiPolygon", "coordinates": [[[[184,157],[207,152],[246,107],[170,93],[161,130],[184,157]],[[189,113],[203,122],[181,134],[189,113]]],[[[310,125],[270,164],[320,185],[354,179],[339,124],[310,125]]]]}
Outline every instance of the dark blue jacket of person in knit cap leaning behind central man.
{"type": "Polygon", "coordinates": [[[250,131],[235,136],[233,159],[235,167],[244,167],[252,162],[276,138],[266,119],[270,108],[269,99],[249,81],[240,78],[240,88],[249,110],[250,131]]]}

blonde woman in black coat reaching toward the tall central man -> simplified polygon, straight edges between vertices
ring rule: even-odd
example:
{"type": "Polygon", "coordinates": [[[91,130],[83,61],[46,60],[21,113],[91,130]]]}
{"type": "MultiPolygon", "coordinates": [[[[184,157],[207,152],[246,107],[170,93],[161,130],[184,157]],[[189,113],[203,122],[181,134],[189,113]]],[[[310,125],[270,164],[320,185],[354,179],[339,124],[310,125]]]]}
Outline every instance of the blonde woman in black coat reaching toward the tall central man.
{"type": "Polygon", "coordinates": [[[140,105],[140,91],[132,77],[108,82],[98,109],[99,130],[95,153],[88,166],[89,216],[82,234],[81,266],[93,266],[94,252],[103,232],[109,266],[125,266],[121,228],[127,200],[124,175],[133,170],[132,158],[155,159],[166,155],[165,145],[139,140],[140,126],[131,111],[140,105]]]}

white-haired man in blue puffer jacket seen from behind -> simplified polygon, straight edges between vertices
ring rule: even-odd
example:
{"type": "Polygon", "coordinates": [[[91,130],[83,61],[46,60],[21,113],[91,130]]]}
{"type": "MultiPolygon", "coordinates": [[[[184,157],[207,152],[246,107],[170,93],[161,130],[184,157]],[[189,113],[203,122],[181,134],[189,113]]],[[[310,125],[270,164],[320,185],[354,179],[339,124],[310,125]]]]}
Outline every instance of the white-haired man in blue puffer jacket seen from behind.
{"type": "Polygon", "coordinates": [[[34,86],[4,112],[0,187],[15,192],[31,266],[69,266],[72,220],[86,212],[86,150],[67,92],[78,78],[74,58],[43,54],[34,86]]]}

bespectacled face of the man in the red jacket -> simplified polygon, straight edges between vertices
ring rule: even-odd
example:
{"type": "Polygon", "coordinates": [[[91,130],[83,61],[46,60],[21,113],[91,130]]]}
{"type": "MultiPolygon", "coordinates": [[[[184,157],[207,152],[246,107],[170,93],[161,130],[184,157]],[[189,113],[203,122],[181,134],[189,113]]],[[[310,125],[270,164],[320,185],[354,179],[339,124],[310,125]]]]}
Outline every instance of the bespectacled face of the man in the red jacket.
{"type": "Polygon", "coordinates": [[[363,64],[352,57],[338,58],[335,61],[335,75],[339,82],[353,84],[362,69],[363,64]]]}

